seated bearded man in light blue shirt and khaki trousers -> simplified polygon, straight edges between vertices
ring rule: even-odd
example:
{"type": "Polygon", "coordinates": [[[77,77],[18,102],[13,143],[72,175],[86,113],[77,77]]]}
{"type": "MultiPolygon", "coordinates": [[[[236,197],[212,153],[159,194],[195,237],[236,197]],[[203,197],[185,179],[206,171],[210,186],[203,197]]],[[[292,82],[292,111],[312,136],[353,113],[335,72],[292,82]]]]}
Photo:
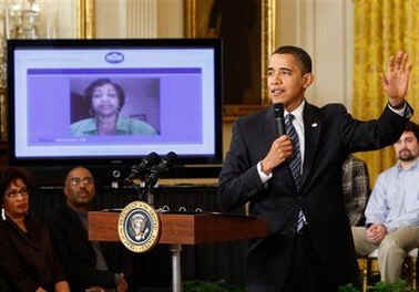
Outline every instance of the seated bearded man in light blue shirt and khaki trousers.
{"type": "Polygon", "coordinates": [[[399,161],[378,177],[366,228],[352,228],[357,253],[378,248],[381,281],[389,283],[400,278],[407,253],[419,247],[419,126],[409,122],[394,147],[399,161]]]}

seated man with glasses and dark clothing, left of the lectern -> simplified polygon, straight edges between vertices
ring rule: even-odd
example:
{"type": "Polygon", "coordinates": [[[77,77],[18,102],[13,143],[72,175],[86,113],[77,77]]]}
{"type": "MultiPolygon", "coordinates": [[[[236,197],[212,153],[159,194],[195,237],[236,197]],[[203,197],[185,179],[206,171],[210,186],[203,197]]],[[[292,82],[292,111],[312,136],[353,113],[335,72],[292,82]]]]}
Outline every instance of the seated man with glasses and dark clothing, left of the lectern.
{"type": "Polygon", "coordinates": [[[92,174],[73,168],[67,175],[64,195],[67,204],[54,211],[51,231],[71,291],[127,291],[124,274],[111,271],[99,242],[88,238],[88,211],[95,196],[92,174]]]}

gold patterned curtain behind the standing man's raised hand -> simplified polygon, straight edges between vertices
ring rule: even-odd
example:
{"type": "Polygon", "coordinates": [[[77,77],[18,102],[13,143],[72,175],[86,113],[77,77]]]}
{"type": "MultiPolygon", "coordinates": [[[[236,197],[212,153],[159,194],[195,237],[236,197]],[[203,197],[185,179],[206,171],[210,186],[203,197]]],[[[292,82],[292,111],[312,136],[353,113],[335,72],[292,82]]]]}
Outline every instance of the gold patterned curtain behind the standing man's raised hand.
{"type": "MultiPolygon", "coordinates": [[[[380,73],[390,55],[402,50],[413,65],[407,101],[419,111],[419,0],[355,0],[352,114],[377,118],[387,104],[380,73]]],[[[418,112],[412,121],[418,123],[418,112]]],[[[374,187],[379,173],[395,163],[392,147],[360,153],[374,187]]]]}

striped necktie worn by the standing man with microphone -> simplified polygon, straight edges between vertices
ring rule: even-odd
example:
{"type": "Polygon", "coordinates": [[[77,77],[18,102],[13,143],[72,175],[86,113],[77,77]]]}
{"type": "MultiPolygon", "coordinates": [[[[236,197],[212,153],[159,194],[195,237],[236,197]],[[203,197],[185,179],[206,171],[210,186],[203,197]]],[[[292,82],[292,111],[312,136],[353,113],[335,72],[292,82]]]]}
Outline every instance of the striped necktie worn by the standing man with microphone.
{"type": "MultiPolygon", "coordinates": [[[[299,148],[298,135],[293,125],[294,118],[295,116],[293,114],[288,114],[286,116],[285,131],[287,132],[287,135],[289,136],[289,138],[293,140],[294,155],[289,159],[289,168],[292,170],[297,190],[299,191],[299,189],[302,188],[302,152],[299,148]]],[[[307,225],[307,220],[303,212],[303,209],[299,207],[298,220],[296,222],[297,232],[299,232],[305,225],[307,225]]]]}

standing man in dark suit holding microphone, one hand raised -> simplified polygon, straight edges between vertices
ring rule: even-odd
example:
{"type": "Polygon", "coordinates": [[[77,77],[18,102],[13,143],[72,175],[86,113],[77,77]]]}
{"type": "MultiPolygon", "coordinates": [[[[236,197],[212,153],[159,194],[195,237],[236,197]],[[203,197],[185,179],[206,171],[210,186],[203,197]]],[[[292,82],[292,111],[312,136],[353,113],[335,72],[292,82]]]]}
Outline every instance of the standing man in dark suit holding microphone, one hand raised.
{"type": "Polygon", "coordinates": [[[407,54],[391,58],[382,76],[388,105],[377,121],[360,122],[343,105],[305,101],[314,76],[303,49],[270,55],[268,88],[273,103],[284,105],[286,135],[278,135],[274,106],[238,119],[219,175],[222,207],[249,202],[251,215],[270,227],[251,242],[248,291],[337,291],[358,282],[341,167],[350,153],[398,139],[412,115],[405,102],[409,72],[407,54]]]}

